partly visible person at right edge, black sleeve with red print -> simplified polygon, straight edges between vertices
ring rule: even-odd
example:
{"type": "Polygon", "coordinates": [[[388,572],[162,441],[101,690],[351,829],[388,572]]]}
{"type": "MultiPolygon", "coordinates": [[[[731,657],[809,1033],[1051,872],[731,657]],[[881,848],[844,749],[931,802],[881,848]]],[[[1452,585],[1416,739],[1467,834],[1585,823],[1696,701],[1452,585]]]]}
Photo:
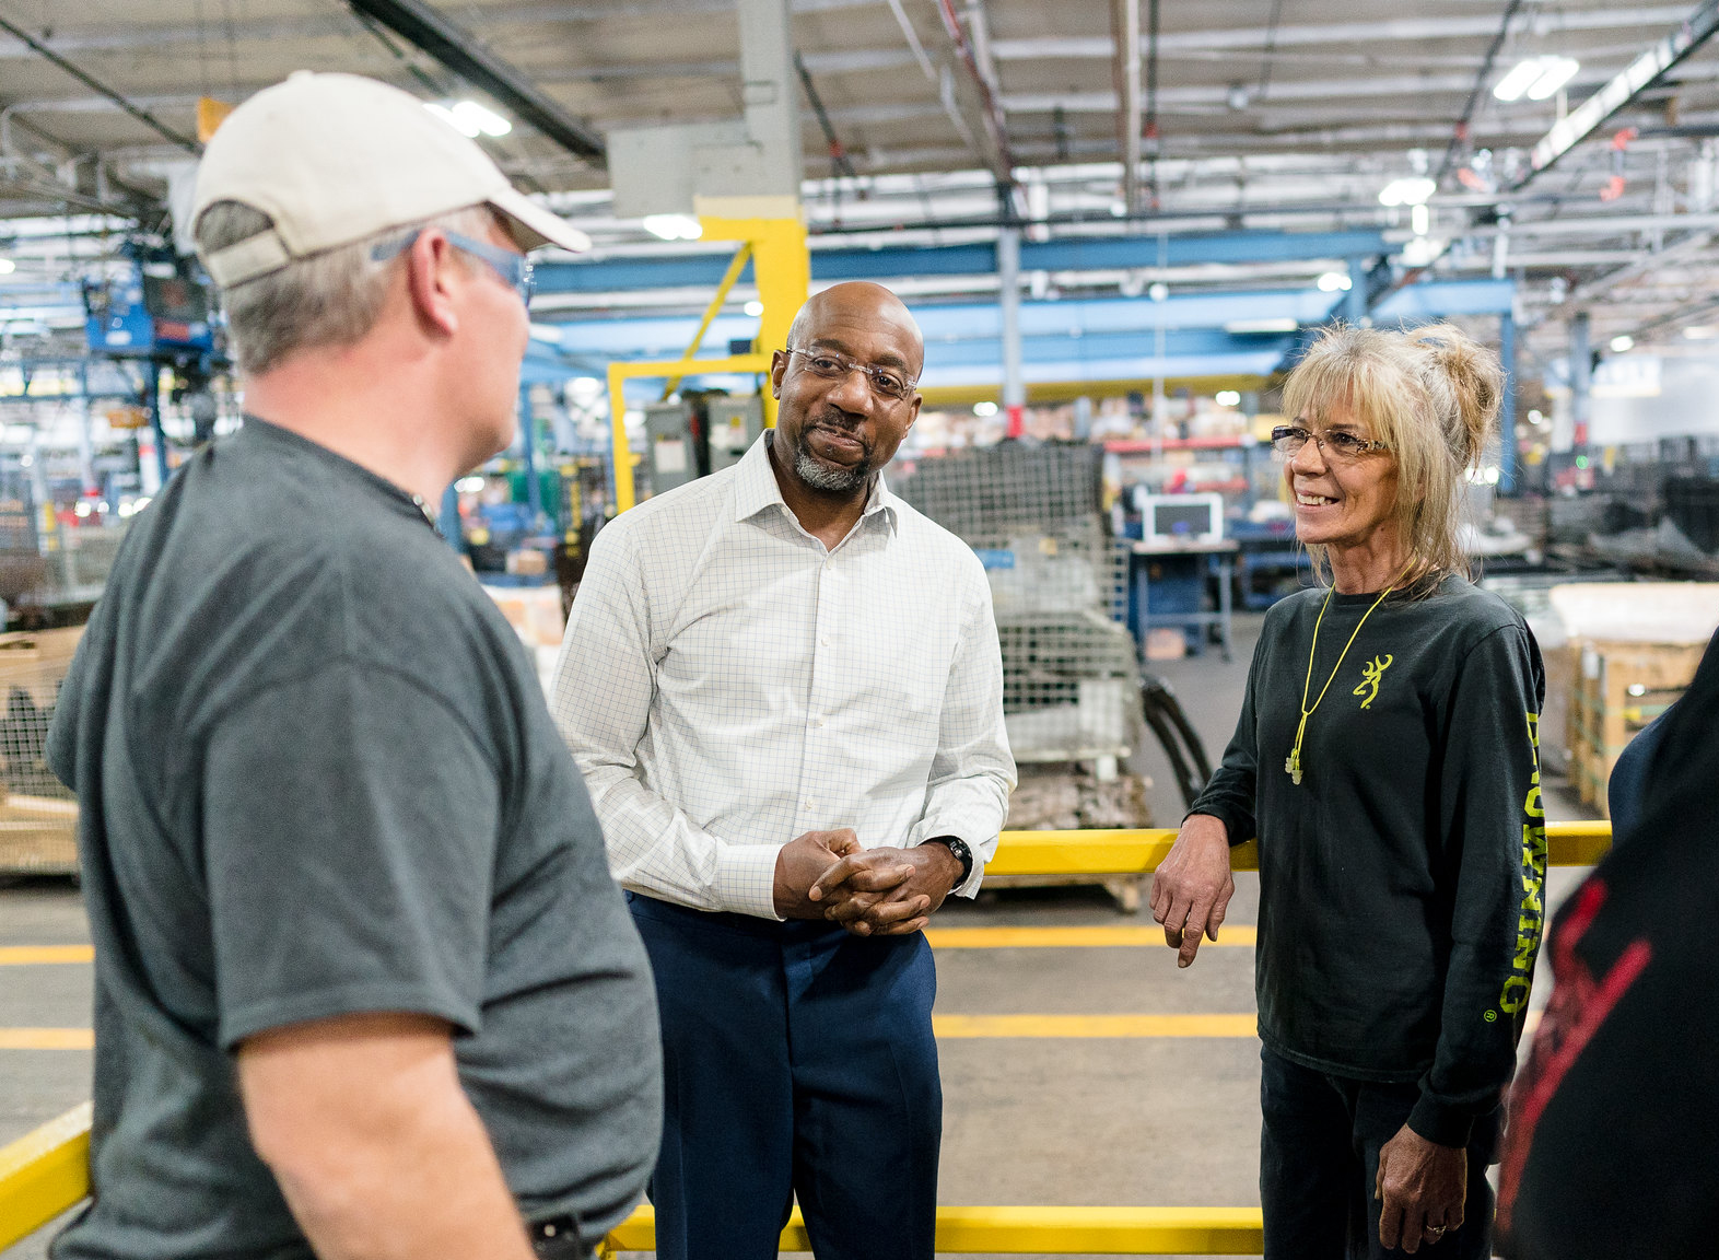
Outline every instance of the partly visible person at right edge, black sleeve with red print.
{"type": "Polygon", "coordinates": [[[1499,1160],[1513,1260],[1719,1253],[1716,713],[1719,638],[1650,727],[1618,842],[1552,920],[1552,995],[1499,1160]]]}

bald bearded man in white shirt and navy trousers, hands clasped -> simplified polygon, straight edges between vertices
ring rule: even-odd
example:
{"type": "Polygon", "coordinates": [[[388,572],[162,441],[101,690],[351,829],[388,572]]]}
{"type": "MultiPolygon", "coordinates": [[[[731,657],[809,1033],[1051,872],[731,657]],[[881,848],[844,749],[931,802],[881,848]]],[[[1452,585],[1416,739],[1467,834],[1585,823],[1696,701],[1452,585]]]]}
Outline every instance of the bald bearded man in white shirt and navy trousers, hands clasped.
{"type": "Polygon", "coordinates": [[[775,352],[774,431],[617,517],[552,708],[657,976],[664,1260],[928,1260],[942,1088],[920,928],[1014,786],[990,588],[878,478],[920,411],[908,309],[844,284],[775,352]]]}

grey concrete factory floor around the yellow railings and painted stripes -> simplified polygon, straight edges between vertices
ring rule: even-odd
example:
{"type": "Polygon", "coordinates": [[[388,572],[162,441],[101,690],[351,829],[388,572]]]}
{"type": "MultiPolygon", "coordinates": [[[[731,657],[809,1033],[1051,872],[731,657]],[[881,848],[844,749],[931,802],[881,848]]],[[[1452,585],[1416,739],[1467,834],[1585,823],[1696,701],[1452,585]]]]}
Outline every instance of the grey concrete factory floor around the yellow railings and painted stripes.
{"type": "MultiPolygon", "coordinates": [[[[1234,660],[1215,651],[1159,662],[1212,760],[1222,755],[1246,684],[1258,615],[1236,619],[1234,660]]],[[[1160,825],[1183,813],[1155,748],[1136,768],[1155,780],[1160,825]]],[[[1554,818],[1581,817],[1556,792],[1554,818]]],[[[1580,872],[1554,872],[1561,901],[1580,872]]],[[[1251,925],[1255,877],[1238,877],[1231,925],[1251,925]]],[[[952,906],[939,927],[1116,925],[1097,889],[1002,890],[952,906]]],[[[1136,920],[1150,923],[1145,916],[1136,920]]],[[[65,882],[0,887],[0,945],[88,940],[65,882]]],[[[1253,951],[1207,947],[1178,971],[1162,947],[940,949],[939,1014],[1253,1012],[1253,951]]],[[[1537,1002],[1549,976],[1542,973],[1537,1002]]],[[[0,1028],[89,1023],[89,968],[0,966],[0,1028]]],[[[971,1038],[942,1045],[945,1203],[1258,1203],[1258,1043],[1253,1038],[971,1038]]],[[[0,1050],[0,1143],[88,1097],[84,1050],[0,1050]]],[[[40,1260],[45,1236],[7,1260],[40,1260]]]]}

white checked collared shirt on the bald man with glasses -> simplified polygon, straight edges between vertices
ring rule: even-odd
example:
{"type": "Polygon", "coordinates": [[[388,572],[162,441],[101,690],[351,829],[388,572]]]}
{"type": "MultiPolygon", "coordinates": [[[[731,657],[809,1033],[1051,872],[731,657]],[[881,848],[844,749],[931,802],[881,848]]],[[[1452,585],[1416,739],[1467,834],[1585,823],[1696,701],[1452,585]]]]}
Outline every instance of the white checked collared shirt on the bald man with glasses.
{"type": "Polygon", "coordinates": [[[1014,787],[985,569],[882,478],[827,550],[782,502],[768,440],[591,547],[550,710],[609,865],[634,892],[775,918],[796,835],[959,835],[973,896],[1014,787]]]}

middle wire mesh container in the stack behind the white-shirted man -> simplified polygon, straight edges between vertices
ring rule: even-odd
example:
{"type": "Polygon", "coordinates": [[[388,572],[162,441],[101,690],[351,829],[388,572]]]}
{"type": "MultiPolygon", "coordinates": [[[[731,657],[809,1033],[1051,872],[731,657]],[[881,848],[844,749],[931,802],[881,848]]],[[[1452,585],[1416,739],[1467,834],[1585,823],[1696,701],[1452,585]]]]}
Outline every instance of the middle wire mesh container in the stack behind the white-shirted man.
{"type": "Polygon", "coordinates": [[[1128,621],[1128,545],[1100,517],[971,536],[999,621],[1100,612],[1128,621]]]}

